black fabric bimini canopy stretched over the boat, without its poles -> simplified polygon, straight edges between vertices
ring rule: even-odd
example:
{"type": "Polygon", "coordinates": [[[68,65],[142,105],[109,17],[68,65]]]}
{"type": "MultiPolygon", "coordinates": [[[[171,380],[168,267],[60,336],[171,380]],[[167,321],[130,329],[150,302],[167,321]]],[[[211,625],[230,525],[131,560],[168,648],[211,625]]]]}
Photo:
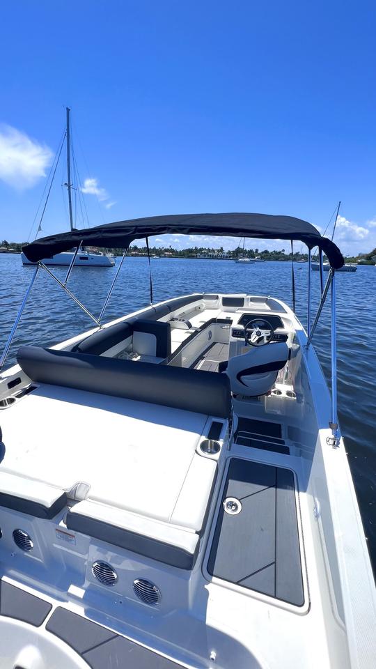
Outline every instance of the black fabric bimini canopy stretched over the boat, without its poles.
{"type": "Polygon", "coordinates": [[[135,239],[164,234],[297,240],[310,249],[318,246],[327,255],[333,268],[338,269],[344,264],[338,247],[331,240],[322,237],[311,223],[292,216],[247,213],[176,214],[134,218],[43,237],[24,246],[22,250],[29,261],[36,263],[77,247],[79,243],[84,246],[126,249],[135,239]]]}

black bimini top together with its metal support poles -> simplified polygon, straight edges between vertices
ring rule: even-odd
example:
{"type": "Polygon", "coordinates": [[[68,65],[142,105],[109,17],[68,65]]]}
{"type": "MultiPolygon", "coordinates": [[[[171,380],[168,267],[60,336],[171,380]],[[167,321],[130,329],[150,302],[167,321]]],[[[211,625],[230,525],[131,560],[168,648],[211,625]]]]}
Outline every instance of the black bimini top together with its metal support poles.
{"type": "MultiPolygon", "coordinates": [[[[338,430],[337,421],[337,380],[336,380],[336,289],[335,289],[335,270],[343,266],[344,260],[340,250],[331,240],[322,237],[318,230],[310,223],[290,216],[272,216],[267,214],[251,214],[251,213],[221,213],[221,214],[182,214],[182,215],[167,215],[154,216],[148,218],[139,218],[129,221],[120,221],[116,223],[109,223],[107,225],[97,226],[85,230],[72,230],[69,233],[62,233],[60,235],[53,235],[50,237],[35,240],[33,243],[23,247],[24,254],[31,262],[37,264],[36,272],[31,279],[31,284],[24,297],[22,305],[17,314],[15,324],[10,332],[3,355],[0,358],[0,370],[6,360],[11,341],[13,340],[15,330],[21,318],[26,300],[29,297],[33,283],[38,275],[39,268],[43,268],[47,273],[55,279],[61,288],[70,295],[70,298],[84,310],[84,312],[101,328],[102,316],[104,309],[107,306],[113,286],[116,283],[120,268],[123,264],[127,249],[135,239],[146,238],[148,245],[148,237],[153,235],[161,235],[166,233],[180,233],[180,234],[203,234],[215,236],[233,236],[233,237],[253,237],[265,239],[289,239],[299,240],[305,243],[308,247],[308,295],[307,295],[307,343],[306,348],[311,344],[313,333],[322,312],[324,301],[327,298],[329,286],[331,285],[331,422],[329,426],[332,431],[332,438],[329,440],[331,445],[337,446],[339,443],[340,433],[338,430]],[[71,293],[66,284],[75,263],[75,258],[81,245],[90,244],[96,247],[110,247],[123,248],[124,253],[120,261],[120,265],[113,279],[111,288],[107,295],[104,305],[100,312],[99,318],[95,318],[84,305],[71,293]],[[311,328],[311,249],[318,247],[320,257],[320,282],[322,286],[322,297],[318,307],[318,313],[311,328]],[[54,254],[68,251],[72,247],[76,247],[76,252],[72,258],[70,268],[65,277],[65,282],[62,283],[49,270],[42,259],[53,256],[54,254]],[[323,288],[322,282],[322,252],[327,255],[327,259],[331,265],[331,271],[327,280],[326,286],[323,288]]],[[[293,258],[293,254],[292,254],[293,258]]],[[[293,281],[294,284],[294,281],[293,281]]],[[[151,276],[150,276],[150,299],[152,300],[151,276]]]]}

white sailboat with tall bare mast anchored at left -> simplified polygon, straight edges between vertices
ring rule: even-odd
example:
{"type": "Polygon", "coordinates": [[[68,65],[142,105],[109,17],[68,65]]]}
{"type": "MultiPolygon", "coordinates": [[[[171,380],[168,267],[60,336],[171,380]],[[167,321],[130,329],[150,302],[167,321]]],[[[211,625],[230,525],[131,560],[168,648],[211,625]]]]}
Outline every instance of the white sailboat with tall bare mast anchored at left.
{"type": "MultiPolygon", "coordinates": [[[[66,128],[66,143],[67,143],[67,183],[65,184],[68,189],[68,208],[69,208],[69,221],[70,221],[70,231],[72,232],[75,229],[73,225],[73,213],[72,213],[72,180],[70,176],[70,108],[66,108],[67,112],[67,128],[66,128]]],[[[24,252],[21,254],[22,264],[23,265],[35,265],[36,263],[31,262],[24,252]]],[[[51,258],[44,258],[42,262],[45,265],[54,265],[54,266],[70,266],[72,263],[75,267],[113,267],[115,265],[115,259],[113,254],[104,254],[100,251],[95,250],[95,252],[88,252],[86,249],[79,248],[78,252],[75,251],[65,251],[63,253],[56,253],[51,258]]]]}

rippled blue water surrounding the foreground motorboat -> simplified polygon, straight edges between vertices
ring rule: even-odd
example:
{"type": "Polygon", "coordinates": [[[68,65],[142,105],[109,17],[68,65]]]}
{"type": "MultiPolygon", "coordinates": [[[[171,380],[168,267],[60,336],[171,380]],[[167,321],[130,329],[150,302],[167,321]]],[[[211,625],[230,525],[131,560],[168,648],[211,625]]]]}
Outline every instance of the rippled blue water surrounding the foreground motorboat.
{"type": "MultiPolygon", "coordinates": [[[[117,259],[119,262],[120,259],[117,259]]],[[[0,351],[34,269],[23,267],[19,255],[0,254],[0,351]]],[[[297,315],[306,325],[307,265],[295,265],[297,315]],[[298,269],[299,268],[299,269],[298,269]]],[[[69,288],[96,316],[109,290],[115,268],[76,268],[69,288]]],[[[54,268],[59,278],[66,268],[54,268]]],[[[291,305],[290,263],[251,266],[233,261],[152,260],[155,302],[185,293],[219,292],[274,295],[291,305]]],[[[376,444],[375,444],[375,284],[376,267],[359,267],[354,274],[337,275],[338,413],[346,440],[368,546],[376,565],[376,444]]],[[[319,272],[312,272],[313,309],[320,295],[319,272]]],[[[107,307],[107,321],[149,303],[148,261],[126,259],[107,307]]],[[[315,334],[324,373],[330,380],[329,303],[315,334]]],[[[105,319],[105,320],[106,320],[105,319]]],[[[8,362],[22,344],[51,345],[92,327],[81,309],[41,271],[34,284],[8,362]]]]}

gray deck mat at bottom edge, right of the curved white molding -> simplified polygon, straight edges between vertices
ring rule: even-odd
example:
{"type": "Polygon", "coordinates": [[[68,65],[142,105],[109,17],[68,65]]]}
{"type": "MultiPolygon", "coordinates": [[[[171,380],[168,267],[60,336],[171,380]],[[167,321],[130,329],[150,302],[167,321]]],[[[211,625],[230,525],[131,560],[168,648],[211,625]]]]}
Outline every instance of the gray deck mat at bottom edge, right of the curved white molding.
{"type": "Polygon", "coordinates": [[[59,606],[46,629],[68,643],[92,669],[181,669],[182,665],[59,606]]]}

